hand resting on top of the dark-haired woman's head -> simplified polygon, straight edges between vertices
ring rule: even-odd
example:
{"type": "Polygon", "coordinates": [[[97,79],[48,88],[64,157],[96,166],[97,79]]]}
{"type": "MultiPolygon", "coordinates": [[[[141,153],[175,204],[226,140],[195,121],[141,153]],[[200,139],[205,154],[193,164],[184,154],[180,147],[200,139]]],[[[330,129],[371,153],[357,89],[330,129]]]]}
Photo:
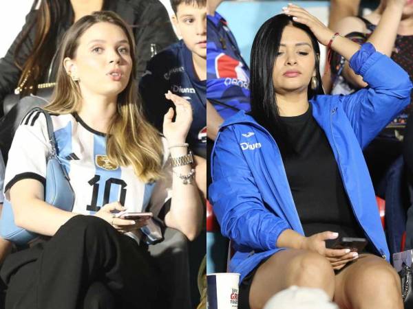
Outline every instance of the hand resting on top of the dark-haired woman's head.
{"type": "Polygon", "coordinates": [[[288,16],[293,16],[293,20],[295,22],[302,23],[309,27],[311,32],[313,32],[319,43],[322,45],[327,46],[328,43],[330,43],[334,32],[324,25],[324,23],[321,23],[317,17],[304,10],[304,8],[288,3],[288,6],[283,8],[283,12],[288,16]]]}

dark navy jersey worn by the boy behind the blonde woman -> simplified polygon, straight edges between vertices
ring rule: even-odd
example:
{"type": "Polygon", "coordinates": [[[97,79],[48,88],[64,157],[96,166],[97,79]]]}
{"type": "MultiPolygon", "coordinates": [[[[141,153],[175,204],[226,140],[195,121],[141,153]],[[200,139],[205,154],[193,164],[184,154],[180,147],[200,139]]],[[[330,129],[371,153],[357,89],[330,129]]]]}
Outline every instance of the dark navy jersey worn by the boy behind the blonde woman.
{"type": "Polygon", "coordinates": [[[165,98],[170,90],[191,103],[193,121],[187,142],[195,153],[207,157],[206,81],[195,76],[191,51],[181,40],[154,56],[140,80],[139,89],[149,120],[162,132],[163,117],[173,103],[165,98]]]}

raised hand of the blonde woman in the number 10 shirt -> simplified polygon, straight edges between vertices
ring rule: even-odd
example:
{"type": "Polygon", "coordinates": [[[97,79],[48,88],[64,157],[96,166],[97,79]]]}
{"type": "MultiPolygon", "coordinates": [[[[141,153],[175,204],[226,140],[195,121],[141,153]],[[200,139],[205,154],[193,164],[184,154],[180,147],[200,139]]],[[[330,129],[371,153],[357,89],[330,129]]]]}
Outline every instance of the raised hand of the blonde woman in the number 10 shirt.
{"type": "Polygon", "coordinates": [[[191,104],[179,95],[174,95],[171,91],[165,93],[165,97],[175,104],[176,118],[175,122],[172,122],[173,108],[169,108],[164,116],[163,133],[170,145],[184,143],[192,123],[191,104]]]}

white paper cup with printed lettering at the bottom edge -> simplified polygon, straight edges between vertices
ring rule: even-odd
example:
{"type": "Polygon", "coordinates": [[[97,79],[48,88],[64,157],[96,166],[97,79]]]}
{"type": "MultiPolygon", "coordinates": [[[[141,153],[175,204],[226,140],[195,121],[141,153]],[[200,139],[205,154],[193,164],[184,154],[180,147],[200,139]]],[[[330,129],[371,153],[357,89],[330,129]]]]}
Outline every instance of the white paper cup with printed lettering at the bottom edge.
{"type": "Polygon", "coordinates": [[[208,309],[237,309],[239,273],[207,274],[208,309]]]}

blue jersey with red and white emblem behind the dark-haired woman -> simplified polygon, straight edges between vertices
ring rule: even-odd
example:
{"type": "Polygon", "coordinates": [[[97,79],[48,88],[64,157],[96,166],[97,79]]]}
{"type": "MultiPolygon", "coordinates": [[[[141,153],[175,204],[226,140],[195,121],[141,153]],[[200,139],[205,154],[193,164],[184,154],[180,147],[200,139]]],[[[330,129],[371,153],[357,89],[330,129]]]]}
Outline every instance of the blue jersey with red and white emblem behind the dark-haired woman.
{"type": "Polygon", "coordinates": [[[207,16],[207,99],[222,118],[250,110],[248,65],[218,12],[207,16]]]}

